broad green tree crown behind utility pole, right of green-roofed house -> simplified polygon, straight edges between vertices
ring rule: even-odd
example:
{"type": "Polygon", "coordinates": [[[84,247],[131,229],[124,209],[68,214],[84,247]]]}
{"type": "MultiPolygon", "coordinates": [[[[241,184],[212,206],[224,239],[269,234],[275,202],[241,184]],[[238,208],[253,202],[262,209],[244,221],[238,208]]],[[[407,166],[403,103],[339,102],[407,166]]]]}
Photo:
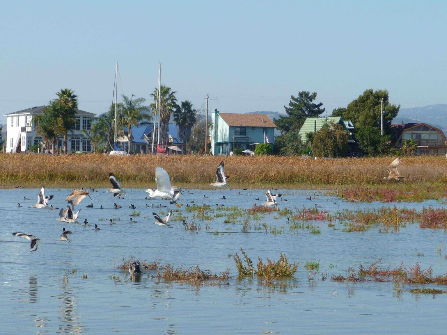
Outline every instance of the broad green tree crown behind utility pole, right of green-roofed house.
{"type": "Polygon", "coordinates": [[[346,108],[333,110],[332,116],[341,116],[343,120],[350,120],[358,130],[363,126],[380,129],[380,103],[384,99],[384,134],[391,133],[391,121],[397,116],[401,105],[392,105],[389,102],[387,90],[367,89],[346,108]]]}

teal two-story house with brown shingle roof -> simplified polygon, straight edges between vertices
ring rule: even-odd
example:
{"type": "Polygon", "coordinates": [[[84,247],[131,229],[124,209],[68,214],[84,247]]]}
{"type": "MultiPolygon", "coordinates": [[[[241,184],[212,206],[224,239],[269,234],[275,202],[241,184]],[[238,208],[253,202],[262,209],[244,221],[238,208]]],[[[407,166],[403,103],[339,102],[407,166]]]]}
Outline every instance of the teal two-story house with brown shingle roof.
{"type": "Polygon", "coordinates": [[[211,113],[211,153],[229,155],[234,148],[254,151],[259,143],[273,146],[276,125],[266,114],[211,113]]]}

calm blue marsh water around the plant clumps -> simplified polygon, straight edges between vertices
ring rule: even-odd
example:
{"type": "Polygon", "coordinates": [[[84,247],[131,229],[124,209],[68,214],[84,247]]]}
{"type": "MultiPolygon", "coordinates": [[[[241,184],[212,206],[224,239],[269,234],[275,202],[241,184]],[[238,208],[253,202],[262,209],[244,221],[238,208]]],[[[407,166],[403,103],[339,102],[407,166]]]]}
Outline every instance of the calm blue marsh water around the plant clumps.
{"type": "MultiPolygon", "coordinates": [[[[328,227],[328,221],[306,222],[321,230],[311,234],[306,229],[290,231],[287,217],[274,212],[251,218],[248,231],[241,232],[243,218],[225,224],[224,208],[245,210],[254,203],[260,205],[266,199],[265,190],[191,189],[188,194],[186,189],[179,201],[181,211],[173,216],[183,215],[189,222],[192,213],[186,212],[186,204],[194,201],[211,205],[208,215],[213,217],[196,218],[201,230],[191,233],[181,221],[170,222],[173,228],[154,224],[152,212],[177,209],[169,201],[145,200],[148,194],[141,189],[126,189],[124,200],[103,191],[98,189],[92,201],[85,198],[76,207],[81,209],[78,221],[87,218],[91,224],[84,227],[58,222],[59,210],[48,213],[30,208],[37,202],[38,189],[0,190],[0,334],[445,334],[447,295],[407,291],[420,287],[446,290],[443,285],[401,285],[398,291],[391,282],[330,281],[331,276],[345,276],[350,267],[357,269],[379,258],[385,268],[421,262],[422,268],[432,266],[434,275],[444,274],[447,251],[441,243],[447,241],[445,230],[420,229],[417,223],[408,223],[398,232],[380,233],[373,227],[348,233],[335,219],[338,230],[328,227]],[[219,199],[223,195],[226,199],[219,199]],[[258,197],[260,201],[255,201],[258,197]],[[23,207],[17,208],[19,202],[23,207]],[[86,208],[92,202],[93,208],[86,208]],[[114,202],[122,208],[114,209],[114,202]],[[137,208],[129,208],[131,204],[137,208]],[[152,204],[168,208],[152,209],[152,204]],[[129,215],[134,211],[141,215],[134,216],[138,223],[131,224],[129,215]],[[218,213],[223,215],[215,217],[218,213]],[[110,218],[117,224],[110,226],[110,218]],[[101,230],[94,230],[95,223],[101,230]],[[209,229],[205,229],[207,223],[209,229]],[[269,225],[267,231],[255,229],[264,223],[269,225]],[[282,234],[271,234],[273,226],[284,226],[282,234]],[[71,243],[57,240],[62,227],[73,232],[71,243]],[[38,236],[38,250],[29,252],[30,241],[12,236],[16,231],[38,236]],[[295,278],[274,286],[256,277],[237,279],[231,255],[240,255],[240,247],[255,264],[258,256],[277,260],[282,252],[289,262],[299,263],[295,278]],[[147,275],[157,271],[148,270],[135,281],[127,271],[116,268],[123,257],[131,256],[185,268],[198,265],[218,273],[230,269],[232,278],[218,286],[196,287],[152,278],[147,275]],[[306,261],[318,261],[319,271],[309,274],[306,261]]],[[[66,205],[70,192],[46,189],[47,195],[55,196],[49,203],[59,208],[66,205]]],[[[339,209],[393,205],[445,206],[438,201],[350,203],[317,190],[275,192],[283,193],[279,207],[292,211],[315,204],[331,214],[339,209]],[[306,200],[313,193],[315,199],[306,200]]]]}

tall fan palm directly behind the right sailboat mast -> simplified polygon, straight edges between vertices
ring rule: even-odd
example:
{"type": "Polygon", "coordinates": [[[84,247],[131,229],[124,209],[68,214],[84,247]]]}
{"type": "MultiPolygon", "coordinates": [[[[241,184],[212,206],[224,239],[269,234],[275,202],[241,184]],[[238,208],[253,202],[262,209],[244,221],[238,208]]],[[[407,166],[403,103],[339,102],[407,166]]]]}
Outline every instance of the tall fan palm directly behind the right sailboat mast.
{"type": "MultiPolygon", "coordinates": [[[[171,88],[165,85],[160,86],[160,144],[162,147],[166,146],[166,142],[168,142],[169,119],[177,107],[175,93],[177,91],[172,91],[171,88]]],[[[156,113],[157,95],[158,88],[155,88],[154,92],[151,93],[151,96],[154,98],[154,103],[150,105],[154,113],[156,113]]],[[[154,117],[156,117],[155,114],[154,117]]]]}

